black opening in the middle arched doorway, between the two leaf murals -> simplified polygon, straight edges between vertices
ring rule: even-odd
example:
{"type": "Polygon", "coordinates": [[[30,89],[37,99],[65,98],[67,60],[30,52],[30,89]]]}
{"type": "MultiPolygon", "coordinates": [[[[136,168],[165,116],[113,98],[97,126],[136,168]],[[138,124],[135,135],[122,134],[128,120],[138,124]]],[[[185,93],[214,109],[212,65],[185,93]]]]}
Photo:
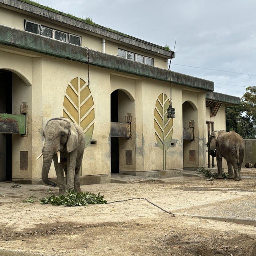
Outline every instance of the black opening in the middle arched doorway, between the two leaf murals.
{"type": "MultiPolygon", "coordinates": [[[[110,95],[110,121],[118,122],[118,90],[110,95]]],[[[119,172],[119,143],[116,137],[110,139],[111,173],[119,172]]]]}

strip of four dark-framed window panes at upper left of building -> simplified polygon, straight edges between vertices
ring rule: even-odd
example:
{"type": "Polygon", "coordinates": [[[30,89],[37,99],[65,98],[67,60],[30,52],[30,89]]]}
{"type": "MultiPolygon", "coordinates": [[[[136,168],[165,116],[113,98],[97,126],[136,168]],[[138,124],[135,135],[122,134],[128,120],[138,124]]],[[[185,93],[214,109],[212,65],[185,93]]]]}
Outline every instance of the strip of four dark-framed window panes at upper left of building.
{"type": "Polygon", "coordinates": [[[24,30],[32,32],[35,34],[40,34],[41,36],[47,36],[49,38],[54,38],[62,42],[69,42],[70,44],[81,45],[81,36],[76,36],[73,34],[61,32],[54,30],[52,28],[47,28],[41,24],[25,20],[24,30]]]}

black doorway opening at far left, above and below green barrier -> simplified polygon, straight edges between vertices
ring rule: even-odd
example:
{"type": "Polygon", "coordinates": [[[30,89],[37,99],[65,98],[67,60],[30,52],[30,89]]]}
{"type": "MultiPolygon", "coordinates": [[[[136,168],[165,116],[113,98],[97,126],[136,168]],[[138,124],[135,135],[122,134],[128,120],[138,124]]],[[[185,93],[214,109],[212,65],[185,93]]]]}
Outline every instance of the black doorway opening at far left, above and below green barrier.
{"type": "MultiPolygon", "coordinates": [[[[0,70],[0,113],[12,114],[12,72],[0,70]]],[[[0,180],[12,180],[12,134],[0,134],[0,180]]]]}

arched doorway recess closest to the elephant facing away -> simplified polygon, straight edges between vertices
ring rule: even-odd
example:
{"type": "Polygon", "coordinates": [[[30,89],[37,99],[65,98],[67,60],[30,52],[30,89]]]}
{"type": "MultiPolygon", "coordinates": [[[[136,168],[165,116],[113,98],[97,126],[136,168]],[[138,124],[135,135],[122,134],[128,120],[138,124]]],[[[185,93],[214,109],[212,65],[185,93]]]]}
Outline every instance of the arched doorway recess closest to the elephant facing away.
{"type": "Polygon", "coordinates": [[[182,104],[183,169],[199,167],[198,110],[193,102],[182,104]]]}

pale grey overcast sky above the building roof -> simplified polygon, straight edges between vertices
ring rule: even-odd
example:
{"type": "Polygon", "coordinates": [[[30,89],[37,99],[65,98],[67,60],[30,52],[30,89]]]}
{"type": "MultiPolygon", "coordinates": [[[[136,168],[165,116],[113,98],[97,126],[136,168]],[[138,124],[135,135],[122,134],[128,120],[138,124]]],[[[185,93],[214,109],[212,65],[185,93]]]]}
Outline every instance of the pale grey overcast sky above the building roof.
{"type": "Polygon", "coordinates": [[[96,24],[160,46],[167,44],[172,50],[176,40],[170,69],[213,81],[215,92],[242,97],[246,87],[256,85],[255,0],[38,3],[76,17],[90,17],[96,24]]]}

